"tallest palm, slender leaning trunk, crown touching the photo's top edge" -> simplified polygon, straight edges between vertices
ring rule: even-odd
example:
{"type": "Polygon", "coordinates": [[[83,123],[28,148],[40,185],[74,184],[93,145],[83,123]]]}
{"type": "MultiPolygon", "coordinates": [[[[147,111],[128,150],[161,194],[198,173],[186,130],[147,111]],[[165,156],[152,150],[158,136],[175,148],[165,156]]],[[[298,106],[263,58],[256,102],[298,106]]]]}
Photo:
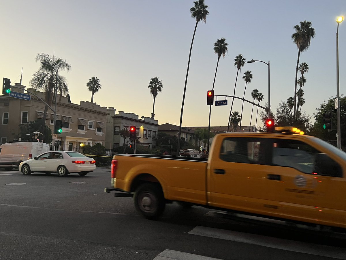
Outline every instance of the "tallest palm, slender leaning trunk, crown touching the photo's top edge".
{"type": "Polygon", "coordinates": [[[185,101],[185,92],[186,92],[186,84],[188,83],[188,75],[189,75],[189,67],[190,67],[190,59],[191,59],[191,51],[192,51],[192,44],[194,35],[196,33],[197,25],[201,21],[202,23],[206,22],[207,15],[209,14],[209,11],[207,10],[209,6],[204,5],[204,0],[198,0],[194,1],[194,6],[190,8],[191,17],[196,19],[196,25],[195,29],[193,31],[192,41],[191,41],[191,47],[190,47],[190,54],[189,54],[189,61],[188,61],[188,69],[186,70],[186,78],[185,78],[185,86],[184,86],[184,94],[183,94],[183,102],[181,105],[181,113],[180,113],[180,123],[179,123],[179,134],[178,134],[178,152],[180,150],[180,136],[181,136],[181,123],[183,120],[183,109],[184,109],[184,101],[185,101]]]}

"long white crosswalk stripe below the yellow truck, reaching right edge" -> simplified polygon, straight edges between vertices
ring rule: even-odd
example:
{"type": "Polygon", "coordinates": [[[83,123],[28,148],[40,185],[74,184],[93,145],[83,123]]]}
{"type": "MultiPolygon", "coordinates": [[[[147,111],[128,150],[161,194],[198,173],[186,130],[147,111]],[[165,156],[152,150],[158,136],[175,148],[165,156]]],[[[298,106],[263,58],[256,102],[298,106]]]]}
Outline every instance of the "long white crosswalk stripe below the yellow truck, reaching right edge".
{"type": "Polygon", "coordinates": [[[320,255],[324,257],[346,259],[345,248],[338,248],[328,245],[319,245],[300,241],[292,241],[287,239],[278,239],[274,237],[202,226],[195,227],[190,232],[188,232],[188,234],[214,237],[217,239],[224,239],[253,245],[261,245],[269,248],[320,255]]]}

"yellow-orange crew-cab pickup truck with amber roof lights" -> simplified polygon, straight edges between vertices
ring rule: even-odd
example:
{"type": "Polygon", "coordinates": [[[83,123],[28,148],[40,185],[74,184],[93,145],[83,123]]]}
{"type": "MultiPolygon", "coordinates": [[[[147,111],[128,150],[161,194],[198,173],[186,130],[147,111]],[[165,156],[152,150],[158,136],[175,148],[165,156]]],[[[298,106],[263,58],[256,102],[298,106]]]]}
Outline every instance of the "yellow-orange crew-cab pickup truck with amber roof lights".
{"type": "Polygon", "coordinates": [[[149,219],[177,201],[346,228],[346,153],[293,127],[218,134],[208,159],[115,155],[111,185],[149,219]]]}

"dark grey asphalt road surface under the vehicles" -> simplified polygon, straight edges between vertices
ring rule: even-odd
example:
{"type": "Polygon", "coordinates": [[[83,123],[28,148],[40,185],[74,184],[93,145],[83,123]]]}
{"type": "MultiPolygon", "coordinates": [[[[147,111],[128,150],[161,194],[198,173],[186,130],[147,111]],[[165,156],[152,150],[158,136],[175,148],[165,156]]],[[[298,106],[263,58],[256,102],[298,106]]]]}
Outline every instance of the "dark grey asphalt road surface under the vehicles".
{"type": "Polygon", "coordinates": [[[103,191],[110,182],[109,168],[67,177],[0,170],[0,259],[346,259],[346,234],[176,203],[147,220],[132,198],[103,191]]]}

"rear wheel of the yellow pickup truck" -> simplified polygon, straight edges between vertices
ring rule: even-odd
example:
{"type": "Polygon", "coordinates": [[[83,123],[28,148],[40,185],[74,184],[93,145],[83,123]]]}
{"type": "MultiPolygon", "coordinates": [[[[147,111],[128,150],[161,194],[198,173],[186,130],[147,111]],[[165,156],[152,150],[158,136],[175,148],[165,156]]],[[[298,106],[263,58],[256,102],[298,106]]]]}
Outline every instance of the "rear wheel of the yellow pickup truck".
{"type": "Polygon", "coordinates": [[[147,219],[156,219],[166,206],[161,187],[151,183],[142,184],[137,188],[134,202],[137,211],[147,219]]]}

